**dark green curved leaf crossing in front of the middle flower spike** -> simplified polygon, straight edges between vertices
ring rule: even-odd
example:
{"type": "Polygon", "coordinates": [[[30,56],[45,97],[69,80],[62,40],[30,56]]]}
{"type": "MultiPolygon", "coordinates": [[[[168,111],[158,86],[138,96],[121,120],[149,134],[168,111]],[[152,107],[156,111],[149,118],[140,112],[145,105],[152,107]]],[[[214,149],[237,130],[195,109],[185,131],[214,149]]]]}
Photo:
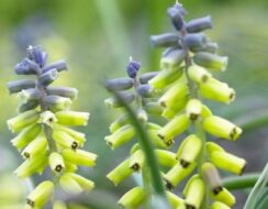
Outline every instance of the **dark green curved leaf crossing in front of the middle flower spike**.
{"type": "Polygon", "coordinates": [[[124,99],[118,94],[114,92],[115,97],[119,99],[120,102],[124,106],[126,112],[129,113],[130,118],[132,119],[133,125],[136,128],[137,134],[138,134],[138,143],[141,144],[141,148],[143,150],[145,157],[146,157],[146,163],[149,168],[150,177],[152,177],[152,186],[154,187],[154,190],[157,195],[160,196],[166,196],[165,195],[165,188],[163,185],[161,176],[159,173],[159,166],[154,153],[154,147],[150,144],[148,134],[136,118],[135,112],[133,109],[124,101],[124,99]]]}

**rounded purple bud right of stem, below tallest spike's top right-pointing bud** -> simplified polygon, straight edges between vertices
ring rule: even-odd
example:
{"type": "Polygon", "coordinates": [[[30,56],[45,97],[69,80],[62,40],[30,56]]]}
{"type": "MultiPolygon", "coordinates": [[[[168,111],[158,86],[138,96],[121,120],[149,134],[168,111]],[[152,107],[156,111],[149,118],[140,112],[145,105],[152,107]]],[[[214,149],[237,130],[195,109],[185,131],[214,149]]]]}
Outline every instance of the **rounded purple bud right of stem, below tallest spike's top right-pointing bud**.
{"type": "Polygon", "coordinates": [[[185,44],[189,47],[192,52],[198,52],[202,48],[205,48],[206,45],[206,37],[203,34],[187,34],[185,37],[185,44]]]}

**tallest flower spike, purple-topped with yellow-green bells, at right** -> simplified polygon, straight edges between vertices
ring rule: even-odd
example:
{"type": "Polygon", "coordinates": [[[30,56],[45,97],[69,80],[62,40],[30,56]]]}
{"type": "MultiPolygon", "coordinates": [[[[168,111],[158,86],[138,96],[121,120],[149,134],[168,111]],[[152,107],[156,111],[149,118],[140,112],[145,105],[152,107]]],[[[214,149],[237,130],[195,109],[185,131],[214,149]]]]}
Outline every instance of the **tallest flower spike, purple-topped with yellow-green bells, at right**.
{"type": "Polygon", "coordinates": [[[198,209],[210,196],[214,202],[206,208],[231,208],[235,197],[222,186],[217,169],[242,175],[246,162],[216,143],[206,142],[205,132],[236,141],[242,129],[214,116],[201,100],[223,103],[234,100],[234,89],[212,75],[212,72],[225,70],[227,57],[217,55],[217,45],[203,34],[212,28],[210,16],[186,21],[186,13],[180,3],[169,8],[168,15],[176,32],[152,36],[153,45],[167,47],[160,59],[161,70],[148,81],[152,91],[164,92],[158,105],[164,109],[161,116],[168,119],[166,125],[157,130],[157,135],[170,145],[178,135],[190,132],[177,151],[176,164],[164,174],[164,179],[171,189],[197,168],[183,189],[185,198],[172,196],[178,199],[172,207],[198,209]]]}

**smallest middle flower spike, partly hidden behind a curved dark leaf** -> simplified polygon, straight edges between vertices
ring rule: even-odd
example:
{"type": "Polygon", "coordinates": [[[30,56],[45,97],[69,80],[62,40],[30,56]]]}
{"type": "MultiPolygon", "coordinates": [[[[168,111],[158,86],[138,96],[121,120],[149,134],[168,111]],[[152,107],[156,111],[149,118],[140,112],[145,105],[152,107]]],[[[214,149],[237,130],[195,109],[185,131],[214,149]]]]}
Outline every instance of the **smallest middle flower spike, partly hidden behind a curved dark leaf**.
{"type": "MultiPolygon", "coordinates": [[[[146,73],[137,77],[138,68],[139,64],[131,61],[126,67],[129,78],[109,79],[105,82],[105,87],[109,91],[116,91],[122,99],[133,106],[137,119],[148,132],[159,165],[164,170],[167,170],[176,165],[176,154],[167,151],[168,145],[157,135],[161,127],[148,120],[149,116],[159,116],[163,111],[161,107],[155,101],[155,98],[158,98],[157,96],[159,95],[158,90],[153,90],[148,85],[148,80],[155,77],[157,73],[146,73]]],[[[107,144],[112,150],[116,150],[127,142],[134,141],[137,133],[129,116],[122,110],[122,103],[118,101],[116,97],[108,98],[105,105],[121,112],[120,117],[110,125],[111,134],[105,136],[107,144]]],[[[152,195],[148,165],[145,153],[138,143],[132,146],[130,156],[111,170],[107,177],[118,186],[133,173],[141,173],[143,185],[132,188],[119,200],[119,205],[124,208],[139,208],[145,201],[150,199],[152,195]]],[[[170,194],[170,197],[172,197],[172,194],[170,194]]]]}

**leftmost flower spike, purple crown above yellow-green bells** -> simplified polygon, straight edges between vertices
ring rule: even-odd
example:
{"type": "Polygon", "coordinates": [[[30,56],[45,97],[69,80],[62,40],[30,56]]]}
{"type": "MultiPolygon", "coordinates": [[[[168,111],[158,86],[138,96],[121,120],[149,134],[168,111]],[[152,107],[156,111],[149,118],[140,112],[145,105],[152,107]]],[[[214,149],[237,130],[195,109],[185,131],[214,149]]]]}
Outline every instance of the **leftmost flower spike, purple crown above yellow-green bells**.
{"type": "Polygon", "coordinates": [[[20,178],[42,175],[47,167],[54,176],[44,180],[27,196],[29,208],[42,208],[53,196],[55,184],[70,193],[90,191],[93,182],[76,174],[78,166],[92,167],[97,155],[81,150],[86,135],[71,127],[87,125],[88,112],[70,110],[77,89],[51,86],[67,69],[65,61],[46,65],[47,53],[30,46],[27,56],[15,65],[18,75],[30,79],[8,82],[10,94],[18,94],[19,114],[8,120],[16,136],[11,143],[24,162],[15,169],[20,178]],[[32,78],[31,78],[32,77],[32,78]]]}

